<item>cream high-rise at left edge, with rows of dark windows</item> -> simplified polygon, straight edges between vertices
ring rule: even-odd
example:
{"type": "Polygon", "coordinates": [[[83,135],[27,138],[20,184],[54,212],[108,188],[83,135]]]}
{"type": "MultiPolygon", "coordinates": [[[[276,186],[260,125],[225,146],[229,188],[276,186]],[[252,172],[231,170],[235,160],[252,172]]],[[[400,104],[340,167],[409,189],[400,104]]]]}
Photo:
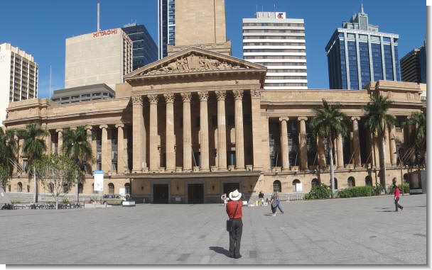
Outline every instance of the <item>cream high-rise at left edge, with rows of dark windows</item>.
{"type": "Polygon", "coordinates": [[[0,44],[0,125],[10,102],[38,96],[38,70],[33,56],[10,43],[0,44]]]}

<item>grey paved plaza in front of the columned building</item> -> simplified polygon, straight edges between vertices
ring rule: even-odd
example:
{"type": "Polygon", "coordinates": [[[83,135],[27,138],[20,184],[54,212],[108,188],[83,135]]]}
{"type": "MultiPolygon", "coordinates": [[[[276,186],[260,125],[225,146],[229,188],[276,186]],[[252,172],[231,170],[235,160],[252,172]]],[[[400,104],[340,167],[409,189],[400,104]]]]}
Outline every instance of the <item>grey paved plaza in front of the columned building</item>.
{"type": "Polygon", "coordinates": [[[0,264],[423,264],[426,194],[243,208],[242,258],[228,257],[225,206],[137,204],[0,210],[0,264]]]}

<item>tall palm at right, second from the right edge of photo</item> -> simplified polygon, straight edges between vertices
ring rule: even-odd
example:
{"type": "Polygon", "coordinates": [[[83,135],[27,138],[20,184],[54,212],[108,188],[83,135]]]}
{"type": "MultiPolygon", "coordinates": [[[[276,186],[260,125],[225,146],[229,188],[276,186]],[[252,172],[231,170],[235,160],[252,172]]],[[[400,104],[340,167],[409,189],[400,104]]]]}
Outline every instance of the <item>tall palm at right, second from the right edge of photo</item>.
{"type": "Polygon", "coordinates": [[[396,117],[387,113],[392,106],[392,101],[384,96],[371,96],[370,101],[363,106],[363,110],[367,113],[365,125],[372,133],[372,137],[377,135],[381,140],[381,150],[379,151],[379,164],[381,168],[381,184],[384,185],[384,191],[387,192],[387,177],[386,177],[386,162],[385,162],[385,130],[386,127],[390,130],[396,125],[396,117]]]}

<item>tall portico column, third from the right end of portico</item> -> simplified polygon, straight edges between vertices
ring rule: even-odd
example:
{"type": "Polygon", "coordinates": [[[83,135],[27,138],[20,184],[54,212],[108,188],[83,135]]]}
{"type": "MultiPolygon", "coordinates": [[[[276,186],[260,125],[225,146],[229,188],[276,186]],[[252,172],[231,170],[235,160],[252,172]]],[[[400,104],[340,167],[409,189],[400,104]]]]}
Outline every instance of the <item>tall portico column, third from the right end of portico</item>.
{"type": "Polygon", "coordinates": [[[227,125],[225,123],[226,91],[216,91],[217,97],[217,164],[219,171],[227,170],[227,125]]]}

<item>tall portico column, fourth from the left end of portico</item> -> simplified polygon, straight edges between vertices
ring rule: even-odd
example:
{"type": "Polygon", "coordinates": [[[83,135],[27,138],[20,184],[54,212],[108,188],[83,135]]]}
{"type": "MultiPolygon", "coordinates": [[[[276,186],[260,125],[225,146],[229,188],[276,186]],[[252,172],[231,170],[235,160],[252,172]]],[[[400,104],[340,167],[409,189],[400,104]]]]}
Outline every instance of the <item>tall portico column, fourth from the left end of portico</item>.
{"type": "Polygon", "coordinates": [[[183,100],[183,171],[192,171],[192,132],[190,125],[190,99],[192,94],[182,93],[183,100]]]}

